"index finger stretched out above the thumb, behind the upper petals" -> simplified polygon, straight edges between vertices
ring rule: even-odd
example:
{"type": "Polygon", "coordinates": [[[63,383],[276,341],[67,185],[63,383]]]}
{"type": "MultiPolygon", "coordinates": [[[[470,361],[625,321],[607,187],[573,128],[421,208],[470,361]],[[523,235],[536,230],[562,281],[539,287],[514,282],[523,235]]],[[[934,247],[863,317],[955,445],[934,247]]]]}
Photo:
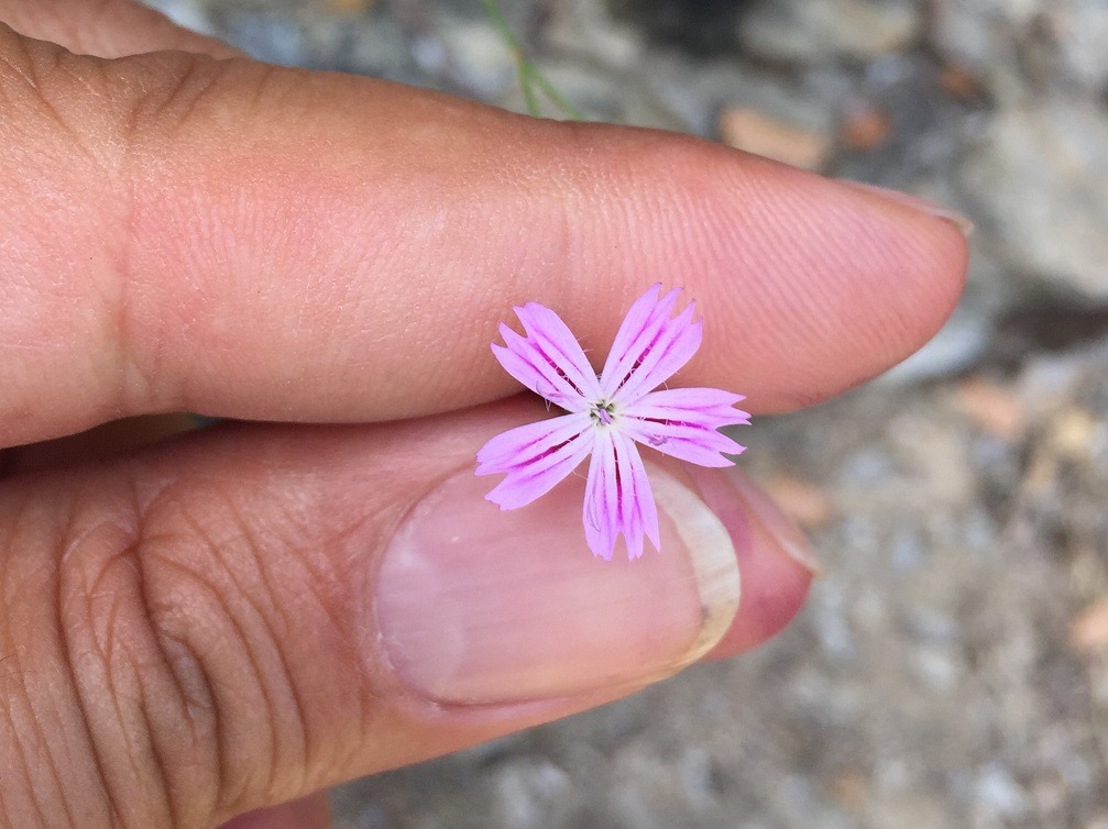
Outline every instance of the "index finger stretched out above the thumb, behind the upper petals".
{"type": "Polygon", "coordinates": [[[469,406],[514,391],[489,353],[512,304],[603,356],[654,282],[704,309],[685,382],[784,410],[906,356],[962,287],[951,222],[688,137],[245,60],[0,53],[4,444],[469,406]]]}

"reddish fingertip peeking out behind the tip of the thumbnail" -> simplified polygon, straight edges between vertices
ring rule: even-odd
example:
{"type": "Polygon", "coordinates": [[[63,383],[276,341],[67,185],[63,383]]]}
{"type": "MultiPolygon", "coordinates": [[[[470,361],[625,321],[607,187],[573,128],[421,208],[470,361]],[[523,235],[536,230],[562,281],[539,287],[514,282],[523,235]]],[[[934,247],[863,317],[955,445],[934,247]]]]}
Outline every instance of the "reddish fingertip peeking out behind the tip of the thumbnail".
{"type": "Polygon", "coordinates": [[[720,650],[748,651],[792,621],[820,566],[804,535],[738,467],[689,473],[730,533],[742,572],[742,604],[720,650]]]}

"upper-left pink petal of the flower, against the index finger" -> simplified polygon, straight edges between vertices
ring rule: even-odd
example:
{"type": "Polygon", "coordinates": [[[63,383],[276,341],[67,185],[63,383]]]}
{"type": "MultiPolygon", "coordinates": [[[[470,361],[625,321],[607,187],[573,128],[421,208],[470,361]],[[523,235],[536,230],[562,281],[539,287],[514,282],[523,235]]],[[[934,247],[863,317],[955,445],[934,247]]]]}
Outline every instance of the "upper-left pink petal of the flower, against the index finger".
{"type": "Polygon", "coordinates": [[[504,370],[531,391],[571,412],[599,398],[599,381],[585,352],[556,313],[537,302],[515,309],[526,336],[501,323],[504,345],[493,353],[504,370]]]}

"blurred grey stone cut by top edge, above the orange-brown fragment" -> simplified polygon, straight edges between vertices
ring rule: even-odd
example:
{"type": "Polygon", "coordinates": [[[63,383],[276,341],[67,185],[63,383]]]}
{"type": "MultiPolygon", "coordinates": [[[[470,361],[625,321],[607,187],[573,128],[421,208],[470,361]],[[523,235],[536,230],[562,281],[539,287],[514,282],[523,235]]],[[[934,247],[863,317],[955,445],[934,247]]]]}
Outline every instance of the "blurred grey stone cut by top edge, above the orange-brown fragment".
{"type": "Polygon", "coordinates": [[[922,23],[914,0],[757,0],[740,18],[739,43],[773,62],[865,61],[903,49],[922,23]]]}

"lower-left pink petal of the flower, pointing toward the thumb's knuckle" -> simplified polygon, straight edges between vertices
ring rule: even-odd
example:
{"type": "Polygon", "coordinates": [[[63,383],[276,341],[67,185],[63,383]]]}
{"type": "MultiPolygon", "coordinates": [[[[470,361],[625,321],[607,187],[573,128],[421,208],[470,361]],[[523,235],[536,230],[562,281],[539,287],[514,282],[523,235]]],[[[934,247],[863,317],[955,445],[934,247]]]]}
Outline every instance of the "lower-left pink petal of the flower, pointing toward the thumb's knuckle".
{"type": "Polygon", "coordinates": [[[478,475],[507,473],[485,496],[515,509],[553,489],[593,448],[592,419],[575,413],[517,426],[496,435],[478,453],[478,475]]]}

